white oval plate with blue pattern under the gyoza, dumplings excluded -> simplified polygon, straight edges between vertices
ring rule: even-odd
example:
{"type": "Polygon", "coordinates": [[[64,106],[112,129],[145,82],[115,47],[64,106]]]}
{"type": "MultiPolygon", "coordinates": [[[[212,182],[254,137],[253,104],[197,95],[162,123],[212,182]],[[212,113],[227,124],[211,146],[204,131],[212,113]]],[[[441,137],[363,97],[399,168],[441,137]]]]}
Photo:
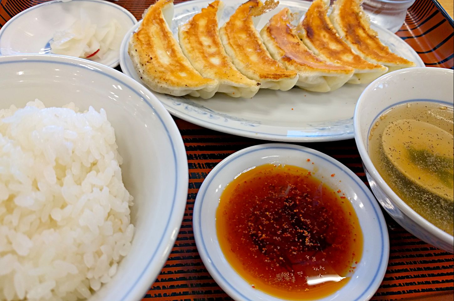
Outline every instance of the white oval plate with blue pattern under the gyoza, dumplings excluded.
{"type": "MultiPolygon", "coordinates": [[[[224,1],[225,9],[219,24],[222,25],[245,0],[224,1]]],[[[199,13],[211,0],[195,0],[175,5],[172,31],[178,39],[178,25],[186,23],[199,13]]],[[[292,12],[305,12],[310,2],[280,0],[276,10],[262,16],[257,28],[268,22],[273,14],[284,7],[292,12]]],[[[128,43],[137,30],[134,26],[120,46],[120,65],[123,73],[141,82],[128,55],[128,43]]],[[[415,61],[420,67],[424,63],[405,41],[388,30],[371,25],[380,39],[395,53],[415,61]]],[[[260,89],[252,99],[232,98],[217,93],[211,99],[191,96],[175,97],[153,92],[174,116],[205,128],[234,135],[274,141],[310,142],[333,141],[353,138],[353,111],[361,92],[367,84],[345,84],[328,93],[316,93],[300,88],[289,91],[260,89]]]]}

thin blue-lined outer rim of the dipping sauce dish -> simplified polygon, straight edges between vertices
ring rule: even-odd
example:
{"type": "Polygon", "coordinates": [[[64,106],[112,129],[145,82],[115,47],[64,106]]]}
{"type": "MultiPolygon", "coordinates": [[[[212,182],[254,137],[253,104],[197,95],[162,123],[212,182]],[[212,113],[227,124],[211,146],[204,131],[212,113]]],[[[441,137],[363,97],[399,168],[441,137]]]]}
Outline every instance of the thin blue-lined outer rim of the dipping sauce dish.
{"type": "MultiPolygon", "coordinates": [[[[204,237],[202,235],[202,230],[201,230],[202,229],[202,218],[200,218],[200,217],[201,217],[201,212],[202,212],[202,203],[205,200],[205,194],[207,192],[207,188],[211,185],[212,180],[214,178],[216,178],[217,174],[220,173],[223,168],[225,168],[229,163],[232,163],[235,159],[248,155],[250,153],[262,151],[263,149],[290,149],[290,150],[294,150],[294,151],[299,151],[301,153],[308,153],[308,154],[311,154],[312,156],[320,158],[320,159],[336,166],[337,168],[341,169],[342,172],[346,176],[348,176],[352,181],[354,181],[358,185],[358,187],[361,189],[361,191],[366,196],[368,196],[368,201],[370,202],[370,204],[372,205],[372,207],[374,209],[375,217],[378,222],[378,228],[380,229],[380,239],[381,239],[381,241],[380,241],[381,242],[381,251],[380,251],[380,261],[379,261],[380,263],[379,263],[377,270],[375,271],[375,275],[373,276],[369,285],[360,294],[360,296],[358,296],[353,301],[369,300],[370,297],[372,297],[373,293],[375,293],[375,291],[373,291],[372,293],[369,292],[368,296],[365,296],[365,297],[363,297],[363,296],[370,290],[372,284],[375,281],[377,281],[377,277],[379,276],[380,273],[382,274],[382,276],[381,276],[382,278],[385,276],[385,270],[386,270],[386,266],[387,266],[387,262],[388,262],[388,260],[387,260],[388,258],[384,258],[385,252],[388,251],[388,253],[389,253],[389,241],[385,241],[385,236],[388,237],[388,233],[386,232],[386,235],[385,235],[385,233],[383,232],[383,229],[386,229],[386,224],[382,223],[382,222],[384,222],[384,217],[383,217],[383,214],[381,213],[380,206],[375,201],[375,197],[373,196],[372,192],[370,192],[370,190],[367,189],[367,187],[360,180],[360,178],[358,178],[358,176],[356,176],[350,169],[345,167],[345,165],[343,165],[336,159],[331,158],[324,153],[321,153],[321,152],[316,151],[311,148],[301,147],[298,145],[291,145],[291,144],[284,144],[284,143],[270,143],[270,144],[261,144],[261,145],[256,145],[256,146],[252,146],[249,148],[244,148],[240,151],[241,153],[233,153],[230,156],[228,156],[227,158],[225,158],[224,160],[222,160],[208,174],[207,178],[205,178],[205,180],[203,181],[202,186],[199,189],[199,192],[197,193],[197,198],[196,198],[196,202],[194,205],[194,215],[193,215],[193,222],[194,222],[194,226],[195,226],[194,227],[194,236],[196,237],[196,243],[197,243],[197,240],[200,240],[200,242],[201,242],[201,246],[199,246],[197,244],[197,248],[199,248],[199,249],[201,248],[203,250],[204,254],[206,254],[206,256],[207,256],[207,260],[203,260],[204,258],[202,257],[202,254],[201,254],[201,257],[202,257],[202,260],[203,260],[205,266],[207,266],[207,267],[211,266],[213,268],[213,270],[216,272],[216,274],[217,274],[216,276],[222,279],[222,281],[223,281],[222,284],[226,285],[231,291],[234,291],[235,293],[237,293],[239,296],[241,296],[246,301],[253,301],[252,299],[248,298],[247,296],[244,296],[242,294],[242,292],[238,291],[234,286],[232,286],[232,284],[222,275],[222,273],[219,271],[219,269],[213,262],[212,258],[209,255],[209,252],[207,250],[207,246],[206,246],[207,243],[204,241],[204,237]],[[381,214],[381,216],[380,216],[380,214],[381,214]],[[196,225],[196,223],[197,223],[197,225],[196,225]],[[385,247],[387,247],[388,250],[385,250],[385,247]]],[[[210,271],[210,273],[212,273],[212,271],[210,271]]]]}

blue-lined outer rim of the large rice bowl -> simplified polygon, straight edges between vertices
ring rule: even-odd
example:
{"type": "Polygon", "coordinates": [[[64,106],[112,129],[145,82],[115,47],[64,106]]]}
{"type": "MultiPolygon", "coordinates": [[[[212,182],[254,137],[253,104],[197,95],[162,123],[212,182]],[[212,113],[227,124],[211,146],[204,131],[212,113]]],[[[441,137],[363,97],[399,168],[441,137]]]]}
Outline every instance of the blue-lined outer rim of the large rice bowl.
{"type": "MultiPolygon", "coordinates": [[[[175,133],[179,134],[177,125],[174,123],[172,117],[167,112],[167,110],[160,104],[160,102],[154,98],[153,94],[148,92],[148,90],[143,91],[143,87],[134,81],[133,79],[127,77],[123,73],[109,68],[105,65],[87,61],[85,59],[79,59],[74,57],[68,57],[63,55],[46,55],[46,54],[15,54],[8,56],[0,57],[0,69],[2,65],[6,64],[30,64],[30,63],[39,63],[39,64],[55,64],[55,65],[67,65],[71,68],[84,69],[89,72],[94,72],[102,74],[110,79],[115,80],[116,82],[122,84],[124,87],[130,89],[131,92],[136,94],[142,101],[144,101],[148,107],[152,110],[153,114],[158,117],[159,122],[162,124],[163,128],[166,131],[169,143],[172,147],[173,158],[175,163],[175,189],[172,196],[172,205],[171,210],[169,211],[169,216],[167,218],[167,224],[165,225],[165,230],[159,239],[159,243],[156,246],[155,250],[150,250],[153,252],[148,262],[144,263],[143,270],[138,273],[138,276],[135,276],[136,280],[134,285],[128,289],[128,291],[121,296],[121,301],[125,300],[134,300],[136,297],[141,297],[143,293],[148,289],[150,283],[156,279],[161,271],[162,266],[168,259],[168,255],[172,250],[172,245],[176,240],[176,234],[178,229],[181,226],[181,221],[183,219],[183,214],[186,206],[187,199],[187,187],[184,187],[184,184],[188,184],[188,164],[186,159],[186,151],[184,149],[183,139],[181,136],[178,141],[174,141],[175,133]],[[37,59],[41,57],[41,59],[37,59]],[[109,74],[110,73],[110,74],[109,74]],[[134,87],[135,86],[135,87],[134,87]],[[164,120],[166,119],[166,120],[164,120]],[[173,128],[173,135],[170,133],[170,128],[173,128]],[[180,178],[178,180],[178,178],[180,178]],[[184,183],[185,182],[185,183],[184,183]],[[180,185],[178,185],[180,183],[180,185]],[[179,207],[177,207],[179,206],[179,207]],[[170,247],[165,246],[169,244],[170,247]],[[159,265],[159,268],[153,269],[150,267],[152,263],[159,265]],[[153,274],[153,279],[147,279],[143,277],[146,273],[153,274]],[[141,283],[139,283],[141,282],[141,283]],[[133,296],[131,296],[133,295],[133,296]]],[[[0,73],[1,74],[1,73],[0,73]]]]}

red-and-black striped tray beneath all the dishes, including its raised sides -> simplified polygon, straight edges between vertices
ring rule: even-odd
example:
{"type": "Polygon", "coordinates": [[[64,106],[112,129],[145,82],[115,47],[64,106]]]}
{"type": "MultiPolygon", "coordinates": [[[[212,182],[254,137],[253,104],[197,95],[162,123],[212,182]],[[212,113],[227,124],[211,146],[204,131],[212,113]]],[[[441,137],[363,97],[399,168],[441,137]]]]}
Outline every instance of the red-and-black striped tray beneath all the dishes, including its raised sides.
{"type": "MultiPolygon", "coordinates": [[[[225,0],[228,1],[228,0],[225,0]]],[[[43,0],[0,0],[0,27],[26,8],[43,0]]],[[[141,18],[155,1],[119,0],[141,18]]],[[[175,0],[175,3],[183,2],[175,0]]],[[[405,24],[397,32],[413,47],[426,66],[453,69],[453,22],[433,0],[417,0],[405,24]]],[[[0,91],[1,93],[1,91],[0,91]]],[[[266,143],[201,128],[175,118],[183,136],[189,167],[189,190],[183,223],[163,270],[143,300],[227,301],[232,300],[209,275],[197,252],[192,232],[192,209],[203,179],[223,158],[248,146],[266,143]]],[[[353,140],[301,143],[336,158],[368,185],[353,140]]],[[[372,300],[453,300],[454,257],[420,241],[394,222],[386,213],[390,234],[390,259],[385,278],[372,300]]]]}

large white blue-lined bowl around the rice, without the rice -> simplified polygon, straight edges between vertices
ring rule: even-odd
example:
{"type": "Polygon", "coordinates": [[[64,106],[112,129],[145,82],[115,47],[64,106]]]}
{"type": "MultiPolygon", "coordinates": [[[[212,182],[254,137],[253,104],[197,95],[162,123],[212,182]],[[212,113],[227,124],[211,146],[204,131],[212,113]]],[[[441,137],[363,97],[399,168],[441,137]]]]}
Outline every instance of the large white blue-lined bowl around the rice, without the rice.
{"type": "Polygon", "coordinates": [[[172,116],[135,80],[104,65],[68,56],[0,57],[0,109],[36,98],[46,107],[74,102],[104,108],[123,157],[122,177],[134,197],[129,254],[89,301],[137,301],[162,270],[181,226],[188,193],[188,160],[172,116]]]}

